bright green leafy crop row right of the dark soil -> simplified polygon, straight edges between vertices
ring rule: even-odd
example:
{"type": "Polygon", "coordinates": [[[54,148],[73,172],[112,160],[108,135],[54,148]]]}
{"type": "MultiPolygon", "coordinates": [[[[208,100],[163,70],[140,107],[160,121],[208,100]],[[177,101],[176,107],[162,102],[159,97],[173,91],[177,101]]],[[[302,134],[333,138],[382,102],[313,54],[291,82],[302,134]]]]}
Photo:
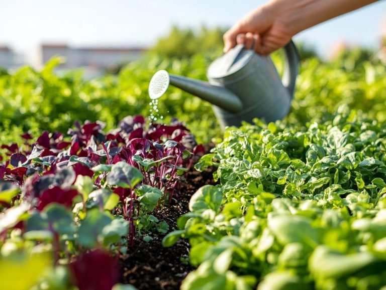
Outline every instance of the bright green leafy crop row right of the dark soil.
{"type": "Polygon", "coordinates": [[[306,128],[228,128],[196,165],[220,185],[163,239],[189,239],[198,269],[181,289],[385,289],[385,136],[386,122],[344,108],[306,128]]]}

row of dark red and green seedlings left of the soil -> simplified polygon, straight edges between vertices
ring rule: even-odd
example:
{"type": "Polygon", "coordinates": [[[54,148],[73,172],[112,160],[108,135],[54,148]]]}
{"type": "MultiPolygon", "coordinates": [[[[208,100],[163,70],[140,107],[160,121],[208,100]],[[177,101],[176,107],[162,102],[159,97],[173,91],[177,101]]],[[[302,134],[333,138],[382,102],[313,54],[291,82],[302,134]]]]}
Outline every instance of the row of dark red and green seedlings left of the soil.
{"type": "Polygon", "coordinates": [[[204,149],[177,121],[147,127],[129,116],[103,127],[77,123],[70,139],[45,131],[2,146],[2,290],[134,289],[118,284],[118,256],[130,254],[135,238],[168,231],[153,212],[179,198],[204,149]]]}

